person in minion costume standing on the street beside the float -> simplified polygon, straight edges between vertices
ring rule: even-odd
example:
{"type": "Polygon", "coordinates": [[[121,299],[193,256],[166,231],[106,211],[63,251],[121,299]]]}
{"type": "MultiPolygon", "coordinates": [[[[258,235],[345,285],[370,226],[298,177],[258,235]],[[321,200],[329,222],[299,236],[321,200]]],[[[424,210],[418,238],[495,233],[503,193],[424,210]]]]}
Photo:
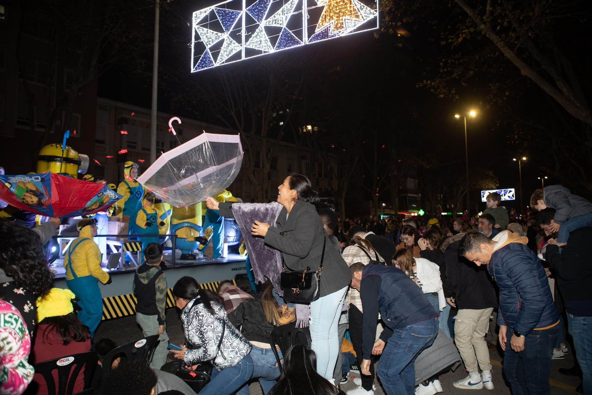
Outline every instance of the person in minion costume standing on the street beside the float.
{"type": "Polygon", "coordinates": [[[81,311],[78,318],[89,327],[91,339],[101,323],[103,300],[98,282],[105,285],[111,283],[111,276],[101,268],[101,251],[93,241],[96,236],[95,218],[83,218],[76,228],[80,232],[78,238],[70,243],[64,257],[66,269],[66,285],[80,299],[81,311]]]}

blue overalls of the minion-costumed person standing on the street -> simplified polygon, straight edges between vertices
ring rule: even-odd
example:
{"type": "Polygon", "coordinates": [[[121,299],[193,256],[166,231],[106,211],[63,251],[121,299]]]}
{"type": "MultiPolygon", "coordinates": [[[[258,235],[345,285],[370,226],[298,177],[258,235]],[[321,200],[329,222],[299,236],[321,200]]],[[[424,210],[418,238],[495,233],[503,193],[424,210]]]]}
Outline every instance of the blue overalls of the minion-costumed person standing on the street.
{"type": "Polygon", "coordinates": [[[95,276],[78,277],[72,268],[72,253],[76,250],[76,247],[85,240],[91,239],[83,238],[78,241],[74,247],[70,247],[68,251],[66,272],[68,267],[70,267],[73,279],[66,279],[66,285],[70,288],[70,291],[74,292],[76,297],[79,298],[79,301],[76,302],[81,308],[81,310],[78,311],[78,319],[91,330],[92,339],[92,337],[95,336],[96,328],[101,323],[103,315],[103,298],[101,296],[101,289],[99,288],[99,280],[95,276]]]}

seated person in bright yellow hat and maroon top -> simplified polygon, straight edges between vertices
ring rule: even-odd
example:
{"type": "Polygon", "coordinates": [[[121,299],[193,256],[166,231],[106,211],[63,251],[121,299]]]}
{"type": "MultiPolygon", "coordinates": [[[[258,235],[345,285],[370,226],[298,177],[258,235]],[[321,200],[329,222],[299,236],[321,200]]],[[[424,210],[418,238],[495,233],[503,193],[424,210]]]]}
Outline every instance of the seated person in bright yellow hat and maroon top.
{"type": "MultiPolygon", "coordinates": [[[[69,289],[52,288],[47,294],[38,297],[37,330],[33,340],[33,351],[29,361],[31,364],[91,351],[91,333],[88,326],[83,325],[74,313],[72,300],[76,296],[69,289]]],[[[84,367],[76,377],[73,393],[84,389],[84,367]]],[[[57,370],[53,371],[53,380],[57,391],[57,370]]],[[[49,393],[43,375],[36,374],[29,386],[31,393],[46,395],[49,393]]]]}

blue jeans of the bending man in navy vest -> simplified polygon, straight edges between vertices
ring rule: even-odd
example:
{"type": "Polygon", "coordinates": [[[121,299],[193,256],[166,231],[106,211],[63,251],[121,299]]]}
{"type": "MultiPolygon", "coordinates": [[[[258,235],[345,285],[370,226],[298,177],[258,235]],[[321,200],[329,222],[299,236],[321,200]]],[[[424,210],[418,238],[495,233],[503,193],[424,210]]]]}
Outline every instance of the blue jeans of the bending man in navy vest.
{"type": "Polygon", "coordinates": [[[378,361],[377,375],[387,395],[414,395],[417,355],[432,345],[438,333],[438,318],[392,331],[378,361]]]}

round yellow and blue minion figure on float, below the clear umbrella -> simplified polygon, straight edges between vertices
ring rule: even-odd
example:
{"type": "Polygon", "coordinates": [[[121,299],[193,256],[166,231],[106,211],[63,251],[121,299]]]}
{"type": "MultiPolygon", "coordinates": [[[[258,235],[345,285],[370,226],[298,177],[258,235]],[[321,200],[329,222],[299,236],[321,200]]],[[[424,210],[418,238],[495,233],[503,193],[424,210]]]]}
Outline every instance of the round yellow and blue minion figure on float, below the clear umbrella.
{"type": "Polygon", "coordinates": [[[208,243],[201,227],[201,204],[173,207],[170,231],[177,235],[176,248],[181,250],[181,259],[195,260],[193,251],[204,249],[208,243]]]}

